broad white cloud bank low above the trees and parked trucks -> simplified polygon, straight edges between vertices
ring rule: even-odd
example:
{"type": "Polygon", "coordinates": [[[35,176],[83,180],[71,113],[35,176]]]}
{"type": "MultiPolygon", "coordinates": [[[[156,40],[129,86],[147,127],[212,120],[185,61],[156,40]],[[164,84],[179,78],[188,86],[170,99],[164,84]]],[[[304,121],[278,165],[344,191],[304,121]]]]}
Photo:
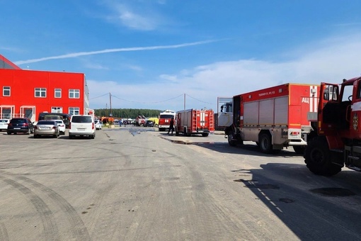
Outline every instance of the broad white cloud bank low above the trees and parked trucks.
{"type": "MultiPolygon", "coordinates": [[[[112,86],[112,94],[127,100],[113,100],[114,108],[171,108],[177,111],[183,109],[183,94],[187,94],[186,108],[215,109],[217,96],[234,96],[285,83],[340,83],[344,78],[360,76],[361,43],[358,39],[359,35],[348,35],[300,47],[300,50],[285,53],[289,60],[282,62],[214,62],[211,65],[183,69],[178,74],[162,74],[159,77],[162,81],[153,84],[132,86],[115,82],[110,85],[91,82],[89,86],[92,96],[100,96],[112,86]],[[172,98],[174,99],[171,101],[165,101],[172,98]],[[143,103],[144,99],[148,101],[143,103]]],[[[105,101],[107,100],[104,99],[103,102],[105,101]]],[[[91,105],[100,108],[93,100],[91,105]]]]}

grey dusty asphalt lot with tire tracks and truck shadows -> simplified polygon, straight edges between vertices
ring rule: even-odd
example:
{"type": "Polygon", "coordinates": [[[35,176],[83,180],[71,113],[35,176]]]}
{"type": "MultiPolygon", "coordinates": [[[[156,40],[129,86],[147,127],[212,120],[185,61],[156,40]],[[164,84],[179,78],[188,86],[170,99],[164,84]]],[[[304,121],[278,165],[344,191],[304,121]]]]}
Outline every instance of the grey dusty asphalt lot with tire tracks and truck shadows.
{"type": "Polygon", "coordinates": [[[0,133],[0,240],[361,240],[361,174],[127,126],[0,133]]]}

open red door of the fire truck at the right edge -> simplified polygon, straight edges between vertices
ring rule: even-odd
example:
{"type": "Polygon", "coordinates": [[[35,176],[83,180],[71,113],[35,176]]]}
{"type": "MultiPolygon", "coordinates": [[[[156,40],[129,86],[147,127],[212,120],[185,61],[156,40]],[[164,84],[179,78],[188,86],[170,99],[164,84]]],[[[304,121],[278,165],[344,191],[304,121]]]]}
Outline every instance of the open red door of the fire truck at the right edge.
{"type": "Polygon", "coordinates": [[[336,135],[340,115],[339,93],[338,84],[321,83],[317,124],[319,135],[336,135]]]}

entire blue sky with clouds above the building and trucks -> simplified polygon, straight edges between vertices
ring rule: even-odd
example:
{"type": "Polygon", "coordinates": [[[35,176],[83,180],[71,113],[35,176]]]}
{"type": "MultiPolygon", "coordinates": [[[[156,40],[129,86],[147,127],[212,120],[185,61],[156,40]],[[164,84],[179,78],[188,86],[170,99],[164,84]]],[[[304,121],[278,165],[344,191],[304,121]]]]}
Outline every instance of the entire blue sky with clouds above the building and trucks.
{"type": "Polygon", "coordinates": [[[91,108],[109,108],[110,93],[112,108],[216,111],[217,96],[359,76],[360,9],[353,0],[0,0],[0,54],[23,69],[86,74],[91,108]]]}

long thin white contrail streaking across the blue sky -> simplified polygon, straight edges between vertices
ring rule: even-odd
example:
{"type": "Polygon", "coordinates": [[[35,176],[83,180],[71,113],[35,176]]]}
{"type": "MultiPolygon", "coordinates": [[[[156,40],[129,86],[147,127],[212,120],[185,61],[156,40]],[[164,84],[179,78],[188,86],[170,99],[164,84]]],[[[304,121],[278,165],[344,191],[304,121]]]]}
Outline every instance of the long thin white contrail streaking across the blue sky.
{"type": "Polygon", "coordinates": [[[46,60],[59,60],[59,59],[66,59],[69,57],[79,57],[84,55],[99,55],[107,52],[125,52],[125,51],[140,51],[140,50],[161,50],[161,49],[169,49],[169,48],[178,48],[178,47],[188,47],[193,45],[202,45],[205,43],[212,43],[216,42],[217,40],[207,40],[207,41],[200,41],[200,42],[193,42],[193,43],[182,43],[179,45],[163,45],[163,46],[151,46],[151,47],[123,47],[123,48],[113,48],[110,50],[98,50],[98,51],[91,51],[91,52],[73,52],[67,55],[58,55],[52,57],[40,57],[39,59],[33,60],[19,60],[14,62],[15,65],[23,65],[35,62],[41,62],[46,60]]]}

